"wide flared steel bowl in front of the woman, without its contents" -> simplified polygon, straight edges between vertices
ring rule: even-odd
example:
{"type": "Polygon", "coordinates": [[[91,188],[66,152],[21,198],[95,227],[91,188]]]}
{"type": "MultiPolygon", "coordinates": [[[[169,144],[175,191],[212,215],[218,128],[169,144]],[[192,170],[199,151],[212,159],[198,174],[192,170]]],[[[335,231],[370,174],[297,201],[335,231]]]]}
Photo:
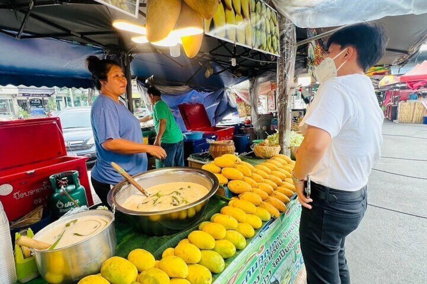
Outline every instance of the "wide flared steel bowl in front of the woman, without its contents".
{"type": "Polygon", "coordinates": [[[218,190],[215,174],[196,168],[162,168],[134,175],[133,178],[144,188],[168,182],[194,182],[205,186],[209,192],[203,198],[186,206],[156,212],[133,211],[122,207],[125,200],[138,192],[129,182],[122,181],[108,193],[108,204],[115,205],[130,223],[140,232],[149,235],[166,235],[183,231],[194,225],[203,215],[207,202],[218,190]]]}

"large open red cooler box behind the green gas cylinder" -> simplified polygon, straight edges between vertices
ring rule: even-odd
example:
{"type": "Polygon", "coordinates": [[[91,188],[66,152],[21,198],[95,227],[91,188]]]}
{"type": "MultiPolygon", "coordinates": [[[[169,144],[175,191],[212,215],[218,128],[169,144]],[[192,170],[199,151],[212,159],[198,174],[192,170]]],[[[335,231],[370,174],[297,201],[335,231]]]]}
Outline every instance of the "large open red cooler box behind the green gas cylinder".
{"type": "Polygon", "coordinates": [[[66,156],[59,118],[0,122],[0,201],[9,221],[40,205],[52,194],[49,176],[79,171],[89,206],[93,205],[86,157],[66,156]]]}

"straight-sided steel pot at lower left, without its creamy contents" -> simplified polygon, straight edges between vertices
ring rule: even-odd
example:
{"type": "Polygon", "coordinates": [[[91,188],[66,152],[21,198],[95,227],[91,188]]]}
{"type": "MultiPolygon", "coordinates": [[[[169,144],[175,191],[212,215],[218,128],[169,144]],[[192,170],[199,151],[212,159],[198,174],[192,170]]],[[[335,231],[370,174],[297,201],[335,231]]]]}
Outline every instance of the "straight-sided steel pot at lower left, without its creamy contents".
{"type": "Polygon", "coordinates": [[[63,227],[72,220],[86,216],[102,216],[111,221],[100,232],[79,243],[54,250],[32,249],[40,275],[48,283],[73,283],[87,275],[96,274],[102,263],[114,255],[114,215],[106,210],[90,210],[59,219],[35,234],[34,239],[49,234],[57,226],[63,227]]]}

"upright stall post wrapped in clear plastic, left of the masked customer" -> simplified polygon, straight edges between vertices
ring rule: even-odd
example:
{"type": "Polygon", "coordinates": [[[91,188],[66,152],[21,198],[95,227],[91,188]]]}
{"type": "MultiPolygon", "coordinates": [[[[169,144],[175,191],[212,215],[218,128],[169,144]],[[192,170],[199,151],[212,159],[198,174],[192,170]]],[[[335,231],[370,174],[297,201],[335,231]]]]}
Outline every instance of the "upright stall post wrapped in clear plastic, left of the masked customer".
{"type": "MultiPolygon", "coordinates": [[[[279,16],[279,15],[278,15],[279,16]]],[[[277,102],[279,143],[282,153],[290,154],[291,96],[295,91],[294,74],[297,56],[297,35],[295,25],[287,18],[278,17],[280,57],[277,59],[277,102]]]]}

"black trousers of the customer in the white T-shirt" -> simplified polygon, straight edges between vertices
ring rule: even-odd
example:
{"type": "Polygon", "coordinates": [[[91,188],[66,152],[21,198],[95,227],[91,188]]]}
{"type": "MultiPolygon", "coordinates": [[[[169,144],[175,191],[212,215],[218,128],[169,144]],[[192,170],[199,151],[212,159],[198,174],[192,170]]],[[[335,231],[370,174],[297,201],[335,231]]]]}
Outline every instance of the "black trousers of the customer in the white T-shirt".
{"type": "Polygon", "coordinates": [[[303,207],[300,222],[307,283],[349,284],[345,237],[359,226],[365,215],[367,186],[348,193],[311,184],[312,209],[303,207]]]}

